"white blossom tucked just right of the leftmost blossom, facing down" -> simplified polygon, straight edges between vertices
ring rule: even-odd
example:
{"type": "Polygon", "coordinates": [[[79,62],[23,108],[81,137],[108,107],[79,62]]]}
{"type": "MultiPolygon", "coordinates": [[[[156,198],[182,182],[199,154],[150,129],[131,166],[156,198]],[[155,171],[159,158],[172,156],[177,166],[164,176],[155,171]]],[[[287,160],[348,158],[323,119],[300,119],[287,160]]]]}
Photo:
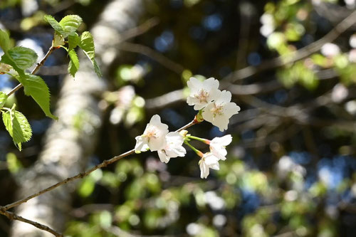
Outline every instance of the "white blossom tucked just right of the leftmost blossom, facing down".
{"type": "Polygon", "coordinates": [[[168,163],[171,158],[184,157],[187,151],[182,146],[184,139],[179,132],[169,132],[165,139],[166,145],[164,149],[159,149],[157,151],[161,162],[168,163]]]}

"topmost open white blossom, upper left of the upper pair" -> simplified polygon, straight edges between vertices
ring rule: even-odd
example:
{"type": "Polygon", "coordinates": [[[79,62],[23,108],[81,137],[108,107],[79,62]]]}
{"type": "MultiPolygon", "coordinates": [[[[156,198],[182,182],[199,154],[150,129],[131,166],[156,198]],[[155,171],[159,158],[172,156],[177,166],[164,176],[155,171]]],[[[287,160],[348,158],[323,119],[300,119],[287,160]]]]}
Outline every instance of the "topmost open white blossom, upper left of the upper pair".
{"type": "Polygon", "coordinates": [[[219,80],[209,78],[200,81],[197,78],[190,78],[187,82],[190,94],[187,98],[188,105],[194,105],[194,110],[201,110],[209,102],[215,100],[220,90],[219,80]]]}

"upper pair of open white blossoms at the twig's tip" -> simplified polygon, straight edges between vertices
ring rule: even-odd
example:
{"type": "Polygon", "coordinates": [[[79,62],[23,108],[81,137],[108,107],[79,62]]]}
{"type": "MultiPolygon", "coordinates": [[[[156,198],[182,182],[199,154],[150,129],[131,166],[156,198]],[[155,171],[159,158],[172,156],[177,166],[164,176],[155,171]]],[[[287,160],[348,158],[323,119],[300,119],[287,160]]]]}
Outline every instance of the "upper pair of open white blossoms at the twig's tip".
{"type": "Polygon", "coordinates": [[[190,78],[187,85],[190,89],[188,105],[194,105],[194,110],[202,110],[203,119],[219,127],[221,132],[227,130],[230,117],[240,111],[240,107],[231,102],[231,93],[219,90],[219,80],[214,78],[204,81],[190,78]]]}

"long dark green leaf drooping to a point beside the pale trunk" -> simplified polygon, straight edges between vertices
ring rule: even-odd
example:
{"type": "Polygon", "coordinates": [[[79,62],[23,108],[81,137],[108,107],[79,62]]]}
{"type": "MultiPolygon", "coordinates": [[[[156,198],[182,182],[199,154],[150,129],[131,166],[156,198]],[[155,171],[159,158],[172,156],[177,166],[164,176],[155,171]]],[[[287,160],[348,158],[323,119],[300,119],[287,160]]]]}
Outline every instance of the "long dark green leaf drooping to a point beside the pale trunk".
{"type": "Polygon", "coordinates": [[[26,74],[20,77],[19,81],[22,83],[23,88],[25,88],[25,94],[28,96],[31,95],[46,116],[58,120],[58,117],[52,115],[50,111],[50,93],[44,80],[38,75],[26,74]]]}

